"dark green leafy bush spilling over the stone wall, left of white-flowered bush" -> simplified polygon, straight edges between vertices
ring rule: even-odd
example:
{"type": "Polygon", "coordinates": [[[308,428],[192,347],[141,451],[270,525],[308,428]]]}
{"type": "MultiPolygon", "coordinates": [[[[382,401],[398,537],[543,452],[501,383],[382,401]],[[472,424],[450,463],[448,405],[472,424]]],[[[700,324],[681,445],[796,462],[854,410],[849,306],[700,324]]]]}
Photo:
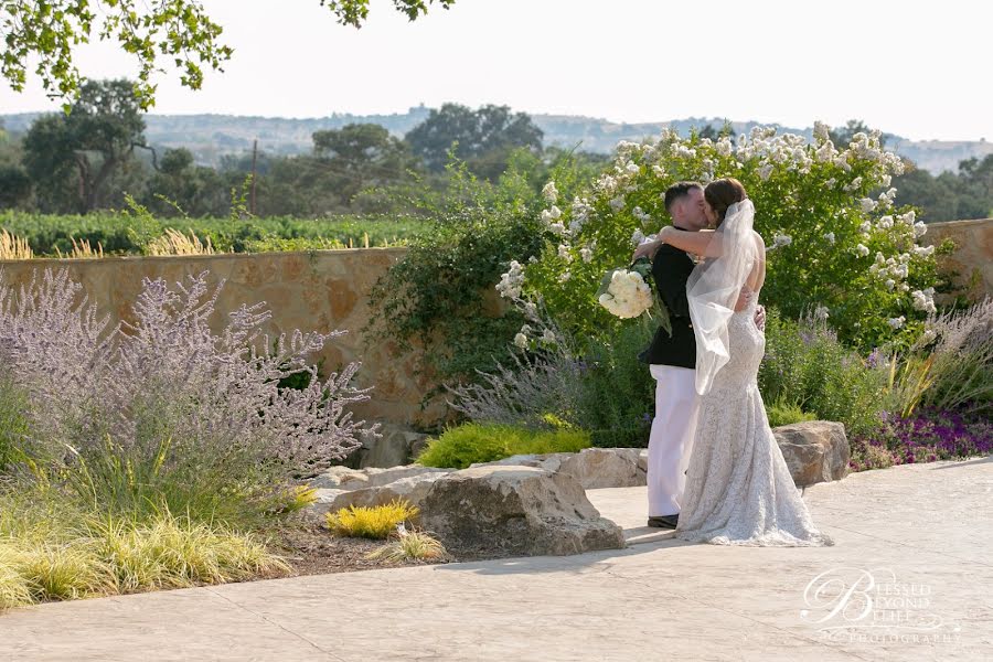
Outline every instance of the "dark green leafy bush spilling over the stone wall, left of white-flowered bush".
{"type": "Polygon", "coordinates": [[[396,203],[429,218],[431,229],[413,238],[403,261],[373,288],[366,330],[383,329],[402,350],[423,348],[425,370],[438,382],[478,381],[477,371],[510,363],[508,340],[524,319],[493,288],[512,259],[541,248],[537,182],[549,171],[569,191],[587,181],[592,167],[568,152],[543,164],[519,151],[495,184],[453,161],[441,192],[393,191],[396,203]]]}

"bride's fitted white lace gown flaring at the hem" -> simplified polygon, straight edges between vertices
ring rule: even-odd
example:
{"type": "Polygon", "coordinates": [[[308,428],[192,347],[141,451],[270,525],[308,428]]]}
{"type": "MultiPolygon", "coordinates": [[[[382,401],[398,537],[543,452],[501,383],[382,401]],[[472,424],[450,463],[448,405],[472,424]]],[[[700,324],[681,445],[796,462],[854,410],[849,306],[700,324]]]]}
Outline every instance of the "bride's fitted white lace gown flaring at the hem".
{"type": "Polygon", "coordinates": [[[758,297],[728,322],[729,361],[701,396],[676,537],[718,545],[833,545],[820,533],[769,428],[758,391],[758,297]]]}

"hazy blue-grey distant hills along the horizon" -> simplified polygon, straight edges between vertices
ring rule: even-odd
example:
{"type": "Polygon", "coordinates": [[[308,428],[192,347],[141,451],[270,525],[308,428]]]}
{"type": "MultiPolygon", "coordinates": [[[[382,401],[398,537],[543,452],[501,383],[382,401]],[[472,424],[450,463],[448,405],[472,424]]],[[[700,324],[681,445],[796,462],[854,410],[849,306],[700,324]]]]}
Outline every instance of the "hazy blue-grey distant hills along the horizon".
{"type": "MultiPolygon", "coordinates": [[[[403,136],[430,111],[424,106],[410,108],[405,114],[394,115],[349,115],[334,114],[329,117],[289,119],[282,117],[246,117],[232,115],[148,115],[146,137],[156,147],[185,147],[199,163],[216,166],[221,157],[241,153],[252,149],[258,139],[259,149],[274,154],[297,154],[311,149],[311,134],[321,129],[341,128],[352,122],[373,122],[386,127],[392,134],[403,136]]],[[[36,113],[0,115],[9,131],[24,131],[36,113]]],[[[686,135],[693,127],[712,124],[720,127],[724,121],[716,118],[686,118],[672,121],[628,124],[574,115],[533,115],[535,124],[545,132],[546,145],[579,148],[586,151],[610,152],[619,140],[641,140],[653,136],[665,127],[686,135]]],[[[760,122],[733,121],[736,132],[750,131],[760,122]]],[[[808,138],[811,128],[791,128],[773,125],[784,131],[800,134],[808,138]]],[[[993,153],[993,143],[978,141],[912,141],[899,136],[888,136],[886,147],[895,150],[918,164],[919,168],[939,173],[943,170],[957,171],[959,161],[993,153]]]]}

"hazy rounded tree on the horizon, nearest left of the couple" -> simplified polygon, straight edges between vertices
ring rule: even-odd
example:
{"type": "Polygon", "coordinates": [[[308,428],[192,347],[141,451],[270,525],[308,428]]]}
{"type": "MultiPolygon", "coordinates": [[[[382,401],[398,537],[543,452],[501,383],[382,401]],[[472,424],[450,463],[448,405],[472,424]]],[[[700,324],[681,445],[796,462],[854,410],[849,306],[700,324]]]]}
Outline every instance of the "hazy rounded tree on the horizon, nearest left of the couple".
{"type": "Polygon", "coordinates": [[[404,139],[429,169],[440,171],[453,143],[458,143],[456,157],[471,167],[473,160],[498,150],[526,147],[540,151],[542,137],[542,130],[528,115],[512,114],[509,106],[488,105],[472,110],[459,104],[445,104],[440,109],[433,108],[427,119],[410,129],[404,139]]]}

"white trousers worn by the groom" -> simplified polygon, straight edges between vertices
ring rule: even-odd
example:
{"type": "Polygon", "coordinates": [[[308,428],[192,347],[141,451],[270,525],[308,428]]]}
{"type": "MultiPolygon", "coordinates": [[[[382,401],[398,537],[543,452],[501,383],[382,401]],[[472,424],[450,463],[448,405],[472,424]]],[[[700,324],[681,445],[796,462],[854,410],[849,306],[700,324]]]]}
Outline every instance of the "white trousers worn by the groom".
{"type": "Polygon", "coordinates": [[[650,370],[655,378],[655,417],[649,437],[649,516],[674,515],[680,512],[696,434],[696,371],[673,365],[650,370]]]}

